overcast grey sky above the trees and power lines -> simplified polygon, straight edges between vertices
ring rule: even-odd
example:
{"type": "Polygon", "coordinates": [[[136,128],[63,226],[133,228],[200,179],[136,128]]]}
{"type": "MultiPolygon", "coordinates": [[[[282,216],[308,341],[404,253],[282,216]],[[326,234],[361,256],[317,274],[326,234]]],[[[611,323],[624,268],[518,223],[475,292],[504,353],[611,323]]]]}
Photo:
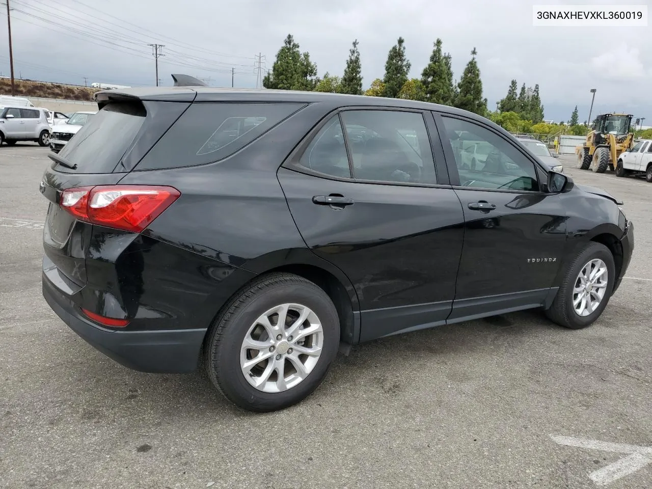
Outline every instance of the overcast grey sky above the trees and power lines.
{"type": "MultiPolygon", "coordinates": [[[[155,83],[149,43],[164,44],[159,78],[170,73],[210,85],[256,85],[255,56],[271,68],[291,33],[319,74],[342,74],[353,39],[360,42],[363,85],[382,78],[387,52],[406,40],[411,76],[420,76],[432,44],[443,40],[459,77],[477,48],[489,107],[509,82],[539,83],[546,119],[568,120],[578,105],[593,114],[629,111],[652,123],[652,27],[533,27],[532,5],[617,4],[591,0],[10,0],[16,76],[83,84],[155,83]],[[56,5],[56,8],[52,8],[56,5]],[[95,5],[95,7],[91,7],[95,5]],[[645,46],[648,46],[646,49],[645,46]]],[[[622,1],[621,1],[622,3],[622,1]]],[[[651,0],[628,3],[650,5],[651,0]]],[[[4,8],[4,7],[3,7],[4,8]]],[[[652,11],[652,8],[650,8],[652,11]]],[[[7,25],[1,22],[0,73],[8,75],[7,25]]]]}

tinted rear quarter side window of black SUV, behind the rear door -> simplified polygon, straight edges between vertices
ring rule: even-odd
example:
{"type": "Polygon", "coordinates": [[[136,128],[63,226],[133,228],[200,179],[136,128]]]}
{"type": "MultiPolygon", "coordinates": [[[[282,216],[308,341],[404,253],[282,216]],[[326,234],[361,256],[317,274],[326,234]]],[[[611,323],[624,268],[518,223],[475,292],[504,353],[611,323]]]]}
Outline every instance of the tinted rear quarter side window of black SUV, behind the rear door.
{"type": "Polygon", "coordinates": [[[304,104],[192,104],[138,164],[159,170],[213,163],[233,155],[304,104]]]}

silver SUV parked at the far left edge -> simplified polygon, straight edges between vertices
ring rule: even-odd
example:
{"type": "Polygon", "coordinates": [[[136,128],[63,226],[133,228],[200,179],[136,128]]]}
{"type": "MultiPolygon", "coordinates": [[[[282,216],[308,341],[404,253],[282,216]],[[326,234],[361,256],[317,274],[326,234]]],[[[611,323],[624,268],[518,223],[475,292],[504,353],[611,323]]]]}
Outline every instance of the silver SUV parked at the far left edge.
{"type": "Polygon", "coordinates": [[[50,125],[44,109],[7,106],[0,112],[0,144],[35,141],[40,146],[47,146],[48,140],[50,125]]]}

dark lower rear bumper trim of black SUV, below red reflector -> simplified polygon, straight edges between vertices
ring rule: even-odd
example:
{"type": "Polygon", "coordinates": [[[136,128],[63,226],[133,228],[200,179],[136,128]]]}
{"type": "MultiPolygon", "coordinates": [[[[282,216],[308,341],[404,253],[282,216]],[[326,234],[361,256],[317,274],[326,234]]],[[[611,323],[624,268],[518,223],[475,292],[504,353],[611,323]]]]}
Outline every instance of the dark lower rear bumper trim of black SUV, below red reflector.
{"type": "Polygon", "coordinates": [[[185,374],[196,370],[206,329],[115,331],[85,319],[46,274],[43,297],[72,331],[104,355],[140,372],[185,374]]]}

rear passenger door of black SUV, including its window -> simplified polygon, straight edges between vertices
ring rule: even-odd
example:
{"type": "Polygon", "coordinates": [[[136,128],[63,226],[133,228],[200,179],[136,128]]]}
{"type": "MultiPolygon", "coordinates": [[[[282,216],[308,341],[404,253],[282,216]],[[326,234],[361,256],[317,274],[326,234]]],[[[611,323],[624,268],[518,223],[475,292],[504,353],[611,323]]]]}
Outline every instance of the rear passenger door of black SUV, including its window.
{"type": "Polygon", "coordinates": [[[343,111],[278,171],[306,244],[355,285],[363,341],[444,323],[451,311],[464,215],[454,190],[437,184],[444,158],[426,116],[343,111]]]}

